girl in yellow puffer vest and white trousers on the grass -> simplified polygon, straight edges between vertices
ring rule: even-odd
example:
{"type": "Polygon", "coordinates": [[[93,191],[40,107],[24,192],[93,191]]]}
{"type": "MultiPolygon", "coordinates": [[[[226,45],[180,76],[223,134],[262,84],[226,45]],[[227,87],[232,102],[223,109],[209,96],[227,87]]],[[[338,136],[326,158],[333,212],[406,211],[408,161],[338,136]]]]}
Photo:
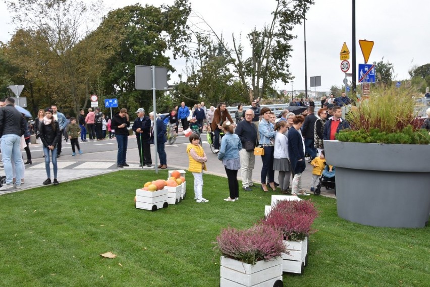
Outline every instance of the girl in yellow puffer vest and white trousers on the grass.
{"type": "Polygon", "coordinates": [[[207,157],[203,148],[199,145],[199,136],[192,133],[190,144],[187,145],[187,154],[190,160],[188,171],[194,176],[194,199],[198,203],[209,202],[203,197],[203,170],[206,170],[207,157]]]}

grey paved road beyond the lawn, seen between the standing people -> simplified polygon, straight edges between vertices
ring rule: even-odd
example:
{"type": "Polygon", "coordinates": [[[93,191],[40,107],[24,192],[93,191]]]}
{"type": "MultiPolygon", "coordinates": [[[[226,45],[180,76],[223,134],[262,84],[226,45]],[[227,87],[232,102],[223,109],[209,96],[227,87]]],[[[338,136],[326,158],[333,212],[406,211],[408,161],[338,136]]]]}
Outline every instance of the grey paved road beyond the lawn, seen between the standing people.
{"type": "MultiPolygon", "coordinates": [[[[203,148],[206,152],[208,162],[207,169],[209,174],[219,175],[225,177],[224,165],[218,160],[217,155],[210,151],[209,144],[207,143],[206,134],[202,134],[203,148]]],[[[139,153],[137,150],[137,142],[135,136],[130,136],[128,140],[127,149],[127,163],[130,167],[124,169],[142,169],[139,167],[139,153]]],[[[189,143],[188,138],[179,136],[173,145],[166,145],[167,162],[169,169],[187,169],[188,156],[186,154],[186,146],[189,143]]],[[[82,155],[72,156],[72,148],[70,142],[63,141],[63,148],[61,157],[58,158],[58,180],[60,182],[75,180],[84,177],[92,177],[95,175],[109,173],[118,170],[117,159],[117,142],[113,140],[94,141],[94,142],[81,142],[81,150],[84,152],[82,155]]],[[[42,182],[46,178],[45,164],[42,157],[43,151],[40,144],[33,144],[30,146],[33,164],[26,165],[25,168],[25,184],[22,186],[25,189],[42,186],[42,182]]],[[[155,164],[155,151],[151,147],[152,164],[155,164]]],[[[25,151],[23,151],[24,161],[26,160],[25,151]]],[[[158,158],[157,158],[158,159],[158,158]]],[[[261,159],[256,157],[255,168],[252,173],[252,179],[256,183],[260,180],[261,159]]],[[[147,168],[145,168],[147,170],[147,168]]],[[[152,168],[154,170],[154,168],[152,168]]],[[[308,164],[302,176],[302,188],[309,190],[311,183],[312,168],[308,164]]],[[[154,170],[155,173],[155,170],[154,170]]],[[[52,171],[51,171],[52,174],[52,171]]],[[[4,175],[4,170],[0,170],[0,175],[4,175]]],[[[278,182],[278,173],[275,172],[275,181],[278,182]]],[[[239,170],[238,179],[241,180],[241,173],[239,170]]],[[[255,191],[261,192],[254,188],[255,191]]],[[[13,190],[16,191],[16,190],[13,190]]],[[[9,193],[11,191],[0,192],[9,193]]],[[[327,196],[334,196],[333,190],[326,191],[325,188],[321,190],[321,194],[327,196]]]]}

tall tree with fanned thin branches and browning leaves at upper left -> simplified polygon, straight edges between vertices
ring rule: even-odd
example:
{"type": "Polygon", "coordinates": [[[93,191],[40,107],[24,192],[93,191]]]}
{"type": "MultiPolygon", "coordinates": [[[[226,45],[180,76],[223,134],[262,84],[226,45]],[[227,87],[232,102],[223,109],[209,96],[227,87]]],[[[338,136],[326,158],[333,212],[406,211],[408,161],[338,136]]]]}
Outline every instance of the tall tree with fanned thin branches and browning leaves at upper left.
{"type": "Polygon", "coordinates": [[[74,53],[73,48],[88,33],[91,21],[97,21],[94,15],[100,11],[100,3],[86,5],[73,0],[15,0],[6,3],[14,21],[26,30],[38,31],[47,43],[50,61],[46,79],[56,85],[47,93],[61,108],[71,108],[77,113],[80,108],[79,86],[85,81],[79,77],[78,71],[82,65],[92,66],[97,57],[82,63],[79,59],[81,54],[74,53]]]}

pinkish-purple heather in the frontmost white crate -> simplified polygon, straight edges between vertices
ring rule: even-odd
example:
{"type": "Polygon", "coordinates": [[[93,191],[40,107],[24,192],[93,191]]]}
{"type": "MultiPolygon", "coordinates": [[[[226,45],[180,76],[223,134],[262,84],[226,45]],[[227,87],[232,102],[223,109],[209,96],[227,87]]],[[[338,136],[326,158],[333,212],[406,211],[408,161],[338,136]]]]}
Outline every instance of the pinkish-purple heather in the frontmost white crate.
{"type": "Polygon", "coordinates": [[[282,237],[266,225],[254,225],[246,230],[222,229],[214,249],[222,255],[255,265],[257,261],[270,261],[286,253],[282,237]]]}

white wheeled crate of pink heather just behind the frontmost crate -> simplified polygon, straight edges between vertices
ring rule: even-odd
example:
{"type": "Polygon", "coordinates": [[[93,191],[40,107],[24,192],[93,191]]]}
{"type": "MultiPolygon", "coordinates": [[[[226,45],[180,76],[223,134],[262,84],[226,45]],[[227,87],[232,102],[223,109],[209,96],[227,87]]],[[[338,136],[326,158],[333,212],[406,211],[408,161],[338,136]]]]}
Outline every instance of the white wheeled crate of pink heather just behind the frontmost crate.
{"type": "Polygon", "coordinates": [[[289,254],[283,253],[282,271],[303,274],[304,266],[307,265],[307,237],[302,241],[284,240],[289,254]]]}

